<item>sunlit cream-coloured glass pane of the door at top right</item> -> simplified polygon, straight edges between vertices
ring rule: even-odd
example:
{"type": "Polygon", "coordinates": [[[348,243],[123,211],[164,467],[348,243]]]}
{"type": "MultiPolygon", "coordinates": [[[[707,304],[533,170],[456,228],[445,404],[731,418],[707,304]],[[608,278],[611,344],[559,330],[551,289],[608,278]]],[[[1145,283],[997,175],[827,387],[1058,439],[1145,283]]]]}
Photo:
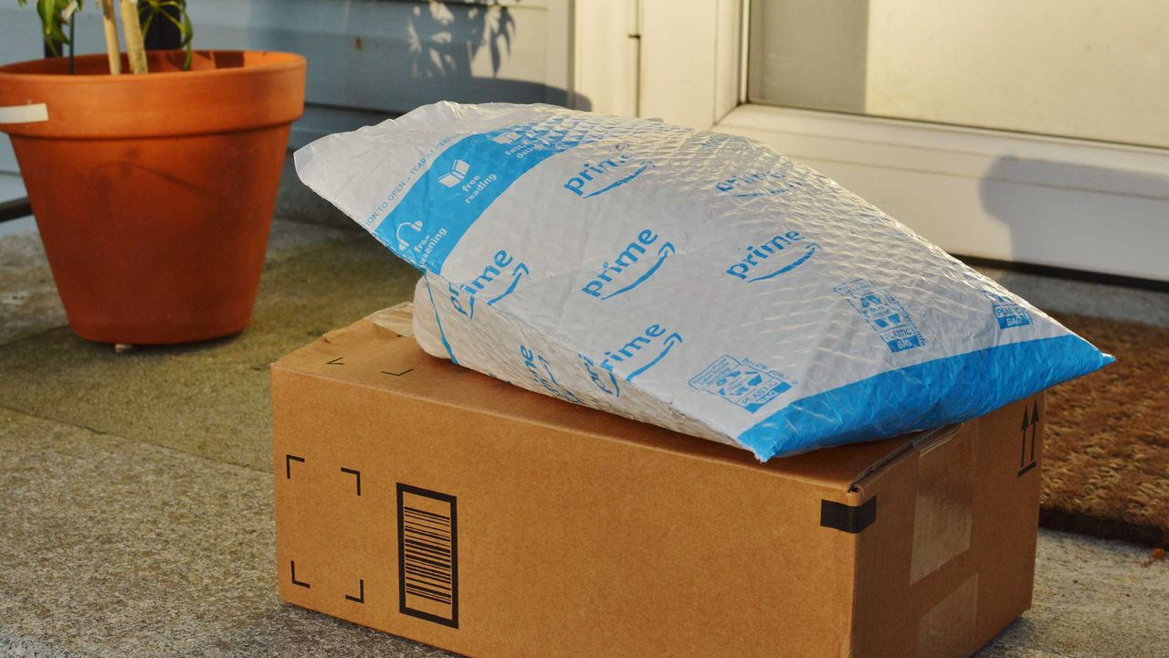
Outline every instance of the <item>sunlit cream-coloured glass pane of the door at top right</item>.
{"type": "Polygon", "coordinates": [[[753,0],[748,97],[1169,146],[1169,2],[753,0]]]}

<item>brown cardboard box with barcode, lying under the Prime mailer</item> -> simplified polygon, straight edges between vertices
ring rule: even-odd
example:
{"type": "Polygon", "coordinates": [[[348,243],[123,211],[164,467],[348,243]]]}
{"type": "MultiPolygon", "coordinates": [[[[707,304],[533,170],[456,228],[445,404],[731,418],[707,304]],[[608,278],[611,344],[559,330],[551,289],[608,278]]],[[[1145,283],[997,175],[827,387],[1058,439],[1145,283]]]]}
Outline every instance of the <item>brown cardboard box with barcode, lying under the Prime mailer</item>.
{"type": "Polygon", "coordinates": [[[1042,396],[761,465],[386,327],[272,366],[291,603],[469,656],[801,658],[969,656],[1031,603],[1042,396]]]}

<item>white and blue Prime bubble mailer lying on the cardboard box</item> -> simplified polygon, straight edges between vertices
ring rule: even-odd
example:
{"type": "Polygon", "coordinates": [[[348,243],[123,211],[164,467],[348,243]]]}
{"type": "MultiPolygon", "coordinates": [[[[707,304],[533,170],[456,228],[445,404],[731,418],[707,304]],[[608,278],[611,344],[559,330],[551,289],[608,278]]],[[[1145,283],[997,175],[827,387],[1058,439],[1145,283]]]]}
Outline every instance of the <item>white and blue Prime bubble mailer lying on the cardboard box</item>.
{"type": "Polygon", "coordinates": [[[741,137],[438,103],[296,166],[422,270],[428,352],[763,460],[967,420],[1112,361],[741,137]]]}

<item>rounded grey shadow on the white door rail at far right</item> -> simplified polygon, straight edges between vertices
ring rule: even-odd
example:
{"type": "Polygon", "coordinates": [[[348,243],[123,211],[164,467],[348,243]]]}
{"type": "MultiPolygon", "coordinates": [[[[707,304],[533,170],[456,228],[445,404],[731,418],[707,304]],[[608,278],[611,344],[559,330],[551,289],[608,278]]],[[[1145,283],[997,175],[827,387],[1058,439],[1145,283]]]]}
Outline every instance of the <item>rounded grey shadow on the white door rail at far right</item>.
{"type": "MultiPolygon", "coordinates": [[[[1169,178],[1002,157],[980,181],[983,210],[1010,233],[1010,258],[1072,269],[1162,269],[1169,178]]],[[[1149,274],[1143,274],[1149,277],[1149,274]]]]}

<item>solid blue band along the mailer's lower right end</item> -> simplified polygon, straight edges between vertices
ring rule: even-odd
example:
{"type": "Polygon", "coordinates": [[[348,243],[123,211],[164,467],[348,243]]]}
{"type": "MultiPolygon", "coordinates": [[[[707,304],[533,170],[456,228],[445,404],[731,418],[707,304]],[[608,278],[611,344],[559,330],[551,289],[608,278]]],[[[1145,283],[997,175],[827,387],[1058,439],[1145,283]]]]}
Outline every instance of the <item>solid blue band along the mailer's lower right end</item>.
{"type": "Polygon", "coordinates": [[[938,358],[795,400],[740,434],[739,443],[767,460],[932,430],[977,418],[1113,361],[1074,335],[938,358]]]}

